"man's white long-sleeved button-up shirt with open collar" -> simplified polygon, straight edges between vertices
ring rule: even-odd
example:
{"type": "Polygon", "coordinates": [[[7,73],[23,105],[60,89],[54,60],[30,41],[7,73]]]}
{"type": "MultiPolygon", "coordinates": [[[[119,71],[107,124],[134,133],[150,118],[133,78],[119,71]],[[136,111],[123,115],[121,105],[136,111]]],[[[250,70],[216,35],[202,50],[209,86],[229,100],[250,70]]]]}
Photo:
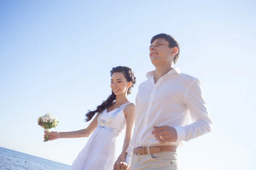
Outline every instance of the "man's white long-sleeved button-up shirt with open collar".
{"type": "Polygon", "coordinates": [[[182,146],[182,141],[211,131],[212,119],[204,102],[201,82],[195,77],[172,69],[154,83],[154,71],[141,83],[135,102],[135,127],[125,162],[131,165],[134,147],[154,145],[182,146]],[[192,124],[189,119],[192,118],[192,124]],[[160,144],[151,134],[153,126],[172,126],[177,141],[160,144]]]}

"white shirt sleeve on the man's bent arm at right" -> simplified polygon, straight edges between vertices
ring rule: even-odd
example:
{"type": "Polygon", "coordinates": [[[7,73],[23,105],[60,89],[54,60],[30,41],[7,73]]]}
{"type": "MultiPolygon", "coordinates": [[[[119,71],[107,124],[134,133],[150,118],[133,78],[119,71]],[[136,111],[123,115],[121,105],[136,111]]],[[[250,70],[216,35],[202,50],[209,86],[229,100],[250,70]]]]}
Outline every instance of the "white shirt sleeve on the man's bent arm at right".
{"type": "Polygon", "coordinates": [[[174,127],[177,131],[177,142],[189,141],[212,130],[212,119],[204,101],[201,82],[196,79],[189,85],[184,103],[190,111],[193,123],[185,127],[174,127]]]}

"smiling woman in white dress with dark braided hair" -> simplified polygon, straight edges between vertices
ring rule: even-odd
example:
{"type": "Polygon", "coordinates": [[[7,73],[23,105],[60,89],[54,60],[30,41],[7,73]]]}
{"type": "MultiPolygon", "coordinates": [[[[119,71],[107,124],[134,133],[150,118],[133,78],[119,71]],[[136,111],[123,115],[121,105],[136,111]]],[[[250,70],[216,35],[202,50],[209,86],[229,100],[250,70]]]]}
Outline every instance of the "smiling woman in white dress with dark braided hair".
{"type": "Polygon", "coordinates": [[[128,101],[127,95],[131,94],[136,77],[131,68],[125,66],[112,68],[110,73],[112,94],[95,111],[88,111],[85,121],[90,121],[95,113],[97,115],[86,129],[44,134],[44,139],[47,134],[49,135],[48,141],[59,138],[89,137],[92,134],[70,170],[113,170],[115,161],[125,161],[135,112],[135,105],[128,101]],[[125,126],[122,153],[116,160],[116,142],[125,126]]]}

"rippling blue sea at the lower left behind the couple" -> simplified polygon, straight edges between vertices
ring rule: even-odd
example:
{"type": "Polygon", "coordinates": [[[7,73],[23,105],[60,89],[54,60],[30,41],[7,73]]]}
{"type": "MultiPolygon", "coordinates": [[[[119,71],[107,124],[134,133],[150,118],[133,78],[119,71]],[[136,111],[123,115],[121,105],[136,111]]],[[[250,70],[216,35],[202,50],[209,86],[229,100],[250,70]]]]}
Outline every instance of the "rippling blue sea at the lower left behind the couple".
{"type": "Polygon", "coordinates": [[[0,147],[0,170],[69,170],[70,166],[0,147]]]}

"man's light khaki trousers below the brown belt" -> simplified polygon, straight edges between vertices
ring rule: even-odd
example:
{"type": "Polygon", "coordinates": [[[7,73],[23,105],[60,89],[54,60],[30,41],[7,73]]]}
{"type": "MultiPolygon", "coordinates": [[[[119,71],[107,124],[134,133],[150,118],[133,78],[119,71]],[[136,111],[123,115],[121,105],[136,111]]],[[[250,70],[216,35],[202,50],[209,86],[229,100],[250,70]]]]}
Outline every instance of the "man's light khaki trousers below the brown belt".
{"type": "Polygon", "coordinates": [[[134,155],[130,170],[178,170],[176,152],[134,155]]]}

